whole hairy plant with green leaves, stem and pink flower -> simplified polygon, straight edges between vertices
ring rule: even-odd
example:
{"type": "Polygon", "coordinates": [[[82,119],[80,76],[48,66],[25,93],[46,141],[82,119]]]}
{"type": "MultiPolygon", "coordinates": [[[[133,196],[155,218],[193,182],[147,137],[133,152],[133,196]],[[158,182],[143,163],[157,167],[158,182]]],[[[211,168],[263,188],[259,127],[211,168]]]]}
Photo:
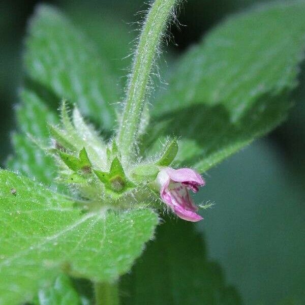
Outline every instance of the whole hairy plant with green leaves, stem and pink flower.
{"type": "MultiPolygon", "coordinates": [[[[133,289],[121,276],[156,227],[166,226],[162,220],[203,219],[198,206],[208,204],[196,205],[191,194],[205,185],[201,174],[286,117],[304,50],[304,3],[265,5],[228,19],[177,61],[168,86],[155,93],[152,77],[180,5],[149,4],[123,99],[95,42],[56,9],[36,10],[15,154],[0,171],[1,304],[128,303],[119,291],[133,289]],[[53,108],[60,100],[58,119],[53,108]],[[80,279],[93,292],[77,289],[80,279]]],[[[178,221],[168,249],[178,245],[175,230],[186,242],[194,233],[178,221]]],[[[182,264],[189,267],[176,265],[182,264]]],[[[230,287],[206,285],[217,293],[202,288],[194,297],[193,288],[182,294],[179,286],[176,303],[215,303],[215,295],[240,302],[230,287]]]]}

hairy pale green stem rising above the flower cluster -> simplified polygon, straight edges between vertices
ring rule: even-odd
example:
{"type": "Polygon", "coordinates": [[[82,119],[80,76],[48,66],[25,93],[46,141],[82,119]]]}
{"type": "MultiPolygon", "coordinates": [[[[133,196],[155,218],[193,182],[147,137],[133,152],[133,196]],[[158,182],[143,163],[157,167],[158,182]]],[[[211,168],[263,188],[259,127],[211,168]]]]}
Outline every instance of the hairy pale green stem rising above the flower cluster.
{"type": "Polygon", "coordinates": [[[146,16],[129,78],[123,118],[117,135],[120,153],[130,159],[134,152],[151,68],[162,33],[178,0],[156,0],[146,16]]]}

